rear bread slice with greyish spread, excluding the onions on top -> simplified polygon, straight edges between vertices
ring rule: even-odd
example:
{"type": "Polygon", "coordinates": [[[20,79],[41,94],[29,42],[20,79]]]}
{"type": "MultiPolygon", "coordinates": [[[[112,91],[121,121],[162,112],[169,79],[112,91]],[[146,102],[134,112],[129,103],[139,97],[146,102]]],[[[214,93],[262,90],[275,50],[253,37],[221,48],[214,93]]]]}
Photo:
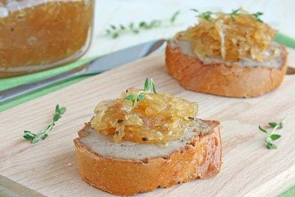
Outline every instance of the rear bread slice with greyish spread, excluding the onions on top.
{"type": "Polygon", "coordinates": [[[186,41],[168,41],[166,66],[186,89],[226,97],[257,97],[269,92],[283,81],[288,52],[278,47],[276,59],[265,62],[243,60],[226,63],[218,58],[199,59],[186,41]]]}

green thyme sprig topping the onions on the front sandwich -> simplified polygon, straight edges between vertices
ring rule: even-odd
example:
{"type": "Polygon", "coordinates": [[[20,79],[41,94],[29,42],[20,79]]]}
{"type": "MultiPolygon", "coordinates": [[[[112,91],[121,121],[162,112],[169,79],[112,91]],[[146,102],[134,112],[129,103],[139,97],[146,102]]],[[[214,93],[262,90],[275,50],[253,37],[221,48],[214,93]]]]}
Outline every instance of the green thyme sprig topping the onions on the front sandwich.
{"type": "Polygon", "coordinates": [[[151,89],[155,94],[157,94],[155,83],[153,82],[152,79],[148,81],[148,78],[147,78],[145,81],[144,90],[139,91],[137,95],[134,95],[134,94],[128,95],[127,97],[125,97],[125,100],[130,100],[132,102],[132,107],[134,107],[135,99],[137,100],[137,102],[143,100],[145,98],[145,94],[149,93],[151,89]]]}

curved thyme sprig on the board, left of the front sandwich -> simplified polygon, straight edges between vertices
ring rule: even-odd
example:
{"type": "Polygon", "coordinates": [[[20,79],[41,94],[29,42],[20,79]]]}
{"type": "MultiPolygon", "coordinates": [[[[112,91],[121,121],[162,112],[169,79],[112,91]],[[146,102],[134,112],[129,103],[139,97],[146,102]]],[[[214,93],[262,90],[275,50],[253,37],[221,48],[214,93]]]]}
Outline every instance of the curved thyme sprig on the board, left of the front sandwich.
{"type": "Polygon", "coordinates": [[[55,122],[57,122],[59,118],[61,118],[61,114],[63,114],[65,110],[66,110],[65,107],[59,108],[59,104],[57,104],[52,123],[48,125],[46,130],[38,131],[36,134],[33,131],[24,131],[23,137],[25,139],[30,140],[31,143],[36,143],[40,139],[45,139],[46,137],[48,137],[48,131],[51,131],[53,129],[53,127],[55,126],[55,122]]]}

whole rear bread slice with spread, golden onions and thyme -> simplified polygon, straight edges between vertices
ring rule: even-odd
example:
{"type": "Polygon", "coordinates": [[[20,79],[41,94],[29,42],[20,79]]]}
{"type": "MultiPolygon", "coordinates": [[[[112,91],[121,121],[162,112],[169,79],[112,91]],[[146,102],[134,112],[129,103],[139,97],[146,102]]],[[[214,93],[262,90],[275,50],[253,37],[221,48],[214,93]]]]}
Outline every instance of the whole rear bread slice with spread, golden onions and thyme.
{"type": "Polygon", "coordinates": [[[227,97],[257,97],[279,87],[288,53],[273,41],[277,32],[262,14],[200,13],[197,25],[168,42],[168,71],[184,88],[227,97]]]}

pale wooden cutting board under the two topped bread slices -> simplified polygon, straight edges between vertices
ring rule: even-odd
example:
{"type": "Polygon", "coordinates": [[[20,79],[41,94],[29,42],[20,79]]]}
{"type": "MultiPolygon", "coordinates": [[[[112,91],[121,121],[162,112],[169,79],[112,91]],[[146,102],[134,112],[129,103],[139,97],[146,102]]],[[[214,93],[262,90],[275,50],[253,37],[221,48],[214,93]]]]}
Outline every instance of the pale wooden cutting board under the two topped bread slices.
{"type": "MultiPolygon", "coordinates": [[[[290,65],[295,65],[291,49],[290,65]]],[[[113,196],[81,179],[73,139],[99,101],[117,98],[126,87],[142,87],[146,77],[154,79],[157,91],[199,102],[200,118],[221,122],[223,166],[215,177],[138,197],[276,197],[295,185],[295,75],[286,75],[278,90],[263,97],[218,97],[183,89],[159,53],[0,113],[0,191],[29,197],[113,196]],[[57,103],[67,111],[50,136],[36,144],[26,141],[23,131],[45,129],[57,103]],[[278,131],[278,149],[266,149],[258,125],[287,116],[291,118],[278,131]]]]}

